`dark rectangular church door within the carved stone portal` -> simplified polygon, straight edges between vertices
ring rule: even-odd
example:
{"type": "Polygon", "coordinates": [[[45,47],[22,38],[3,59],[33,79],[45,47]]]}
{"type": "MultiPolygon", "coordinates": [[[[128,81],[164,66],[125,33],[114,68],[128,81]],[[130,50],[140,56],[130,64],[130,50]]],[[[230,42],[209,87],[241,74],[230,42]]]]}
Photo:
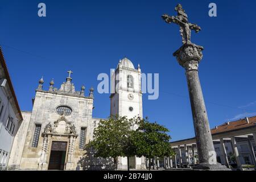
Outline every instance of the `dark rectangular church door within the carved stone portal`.
{"type": "Polygon", "coordinates": [[[67,142],[52,142],[48,170],[64,170],[67,142]]]}

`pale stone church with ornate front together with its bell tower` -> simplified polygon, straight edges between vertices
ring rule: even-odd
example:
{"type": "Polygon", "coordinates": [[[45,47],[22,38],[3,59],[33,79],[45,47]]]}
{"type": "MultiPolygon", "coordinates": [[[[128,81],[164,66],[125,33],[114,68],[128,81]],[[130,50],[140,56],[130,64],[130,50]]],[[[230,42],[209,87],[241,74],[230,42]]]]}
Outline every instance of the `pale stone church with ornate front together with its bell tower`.
{"type": "MultiPolygon", "coordinates": [[[[8,164],[9,170],[79,170],[113,169],[113,159],[94,158],[86,152],[85,144],[93,139],[94,128],[100,119],[93,118],[94,89],[85,94],[77,91],[71,71],[60,88],[44,89],[39,81],[32,111],[23,111],[23,123],[14,139],[8,164]]],[[[134,68],[127,58],[120,60],[112,75],[115,92],[110,96],[110,114],[128,118],[142,115],[141,69],[134,68]]],[[[112,88],[113,89],[113,88],[112,88]]],[[[130,167],[146,168],[144,158],[133,157],[130,167]]],[[[127,159],[118,158],[118,169],[127,168],[127,159]]]]}

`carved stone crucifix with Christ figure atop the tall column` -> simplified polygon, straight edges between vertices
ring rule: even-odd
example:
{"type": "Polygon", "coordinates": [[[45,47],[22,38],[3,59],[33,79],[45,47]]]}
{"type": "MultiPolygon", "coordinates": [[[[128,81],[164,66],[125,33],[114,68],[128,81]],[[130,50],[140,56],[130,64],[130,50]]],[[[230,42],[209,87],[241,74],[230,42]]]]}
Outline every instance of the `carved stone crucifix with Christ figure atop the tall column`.
{"type": "Polygon", "coordinates": [[[167,14],[164,14],[162,15],[162,18],[166,21],[166,23],[178,24],[180,26],[182,43],[191,44],[191,30],[199,32],[201,30],[201,27],[197,26],[197,24],[188,22],[188,15],[185,13],[185,10],[183,10],[180,4],[175,7],[175,11],[177,11],[177,16],[169,16],[167,14]]]}

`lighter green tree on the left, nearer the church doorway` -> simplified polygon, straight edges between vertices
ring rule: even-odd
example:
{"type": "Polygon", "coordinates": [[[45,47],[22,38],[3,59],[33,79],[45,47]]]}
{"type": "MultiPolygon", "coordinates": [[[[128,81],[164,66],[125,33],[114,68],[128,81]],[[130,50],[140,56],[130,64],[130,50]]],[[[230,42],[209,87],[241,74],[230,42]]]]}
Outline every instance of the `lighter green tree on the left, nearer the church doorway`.
{"type": "Polygon", "coordinates": [[[134,135],[134,119],[113,115],[106,120],[101,120],[94,130],[93,140],[86,147],[92,147],[96,157],[113,158],[117,166],[117,157],[127,157],[129,171],[129,158],[136,155],[136,148],[131,141],[134,135]]]}

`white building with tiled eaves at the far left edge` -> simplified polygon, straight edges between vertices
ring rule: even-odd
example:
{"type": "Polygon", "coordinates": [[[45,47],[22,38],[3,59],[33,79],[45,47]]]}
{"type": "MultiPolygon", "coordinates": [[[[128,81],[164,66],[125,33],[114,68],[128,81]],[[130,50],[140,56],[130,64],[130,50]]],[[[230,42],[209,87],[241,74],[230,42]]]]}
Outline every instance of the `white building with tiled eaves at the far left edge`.
{"type": "Polygon", "coordinates": [[[23,121],[0,47],[0,170],[7,168],[13,140],[23,121]]]}

